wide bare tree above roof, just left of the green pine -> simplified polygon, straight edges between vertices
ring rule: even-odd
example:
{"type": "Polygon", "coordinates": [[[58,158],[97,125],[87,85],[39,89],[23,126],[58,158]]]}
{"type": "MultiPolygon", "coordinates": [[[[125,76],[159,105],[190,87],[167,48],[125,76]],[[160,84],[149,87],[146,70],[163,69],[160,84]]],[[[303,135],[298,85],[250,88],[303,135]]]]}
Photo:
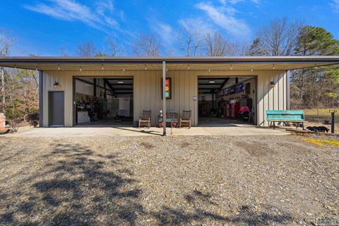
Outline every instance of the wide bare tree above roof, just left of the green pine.
{"type": "Polygon", "coordinates": [[[266,56],[290,56],[297,45],[302,23],[289,23],[287,18],[274,19],[256,32],[256,53],[266,56]],[[258,51],[258,48],[260,51],[258,51]]]}

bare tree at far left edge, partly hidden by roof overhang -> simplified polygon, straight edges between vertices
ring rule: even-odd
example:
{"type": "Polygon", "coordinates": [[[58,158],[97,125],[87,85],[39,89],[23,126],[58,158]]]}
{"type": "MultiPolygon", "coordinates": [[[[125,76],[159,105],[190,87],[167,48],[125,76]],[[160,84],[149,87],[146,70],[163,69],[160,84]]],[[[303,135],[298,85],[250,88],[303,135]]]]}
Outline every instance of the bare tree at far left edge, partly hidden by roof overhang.
{"type": "MultiPolygon", "coordinates": [[[[6,57],[9,54],[9,48],[11,47],[11,44],[13,42],[13,39],[9,37],[8,32],[4,30],[0,30],[0,57],[6,57]]],[[[2,112],[6,112],[6,81],[5,81],[5,69],[4,67],[0,68],[1,73],[1,110],[2,112]]]]}

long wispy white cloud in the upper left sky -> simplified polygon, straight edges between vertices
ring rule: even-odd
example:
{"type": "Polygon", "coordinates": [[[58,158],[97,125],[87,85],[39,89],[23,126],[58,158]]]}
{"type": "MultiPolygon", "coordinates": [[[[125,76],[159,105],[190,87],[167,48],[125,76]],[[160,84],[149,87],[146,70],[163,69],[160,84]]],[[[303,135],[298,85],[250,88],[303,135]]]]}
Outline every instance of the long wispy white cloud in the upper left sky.
{"type": "Polygon", "coordinates": [[[49,0],[25,8],[59,20],[81,21],[100,30],[119,27],[119,23],[112,16],[115,9],[111,0],[95,2],[94,9],[76,0],[49,0]]]}

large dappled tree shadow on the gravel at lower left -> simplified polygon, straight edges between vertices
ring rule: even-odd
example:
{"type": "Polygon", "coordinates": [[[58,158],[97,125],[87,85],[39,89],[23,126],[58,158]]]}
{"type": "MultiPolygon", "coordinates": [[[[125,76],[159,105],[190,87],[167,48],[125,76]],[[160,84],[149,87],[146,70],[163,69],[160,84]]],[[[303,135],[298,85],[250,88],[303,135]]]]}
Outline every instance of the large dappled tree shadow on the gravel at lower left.
{"type": "Polygon", "coordinates": [[[133,172],[115,155],[54,144],[41,172],[0,191],[0,225],[135,225],[144,210],[133,172]]]}

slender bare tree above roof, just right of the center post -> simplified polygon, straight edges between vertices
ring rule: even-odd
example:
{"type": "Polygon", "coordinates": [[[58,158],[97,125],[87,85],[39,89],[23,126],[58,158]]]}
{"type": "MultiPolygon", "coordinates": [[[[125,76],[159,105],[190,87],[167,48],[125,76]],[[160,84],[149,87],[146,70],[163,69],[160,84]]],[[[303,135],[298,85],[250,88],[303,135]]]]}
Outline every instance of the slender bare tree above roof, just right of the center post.
{"type": "Polygon", "coordinates": [[[182,25],[182,30],[178,33],[178,39],[182,45],[182,51],[186,52],[186,57],[196,57],[201,54],[203,46],[203,35],[201,30],[188,28],[182,25]]]}

